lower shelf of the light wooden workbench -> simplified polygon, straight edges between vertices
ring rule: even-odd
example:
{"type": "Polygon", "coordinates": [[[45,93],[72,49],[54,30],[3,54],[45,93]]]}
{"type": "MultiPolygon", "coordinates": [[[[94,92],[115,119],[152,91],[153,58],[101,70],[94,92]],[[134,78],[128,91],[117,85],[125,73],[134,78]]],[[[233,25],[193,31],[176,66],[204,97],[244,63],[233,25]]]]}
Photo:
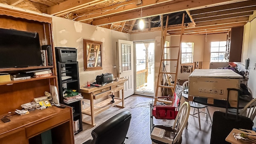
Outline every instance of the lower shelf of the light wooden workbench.
{"type": "MultiPolygon", "coordinates": [[[[111,106],[114,106],[120,102],[122,102],[122,99],[120,98],[114,98],[114,103],[111,103],[110,101],[112,100],[112,98],[108,98],[102,102],[99,102],[98,104],[94,105],[94,114],[100,114],[101,112],[103,112],[104,110],[107,110],[108,108],[110,108],[111,106]]],[[[91,116],[91,108],[88,107],[84,110],[82,110],[82,114],[86,114],[88,116],[91,116]]]]}

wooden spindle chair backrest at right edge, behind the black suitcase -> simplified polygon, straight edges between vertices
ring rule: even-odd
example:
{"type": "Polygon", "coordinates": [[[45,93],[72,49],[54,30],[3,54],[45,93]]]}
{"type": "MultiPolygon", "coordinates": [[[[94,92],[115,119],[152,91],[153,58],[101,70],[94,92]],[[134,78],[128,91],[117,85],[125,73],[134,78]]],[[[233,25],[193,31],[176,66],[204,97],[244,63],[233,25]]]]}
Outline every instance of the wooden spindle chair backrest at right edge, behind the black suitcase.
{"type": "Polygon", "coordinates": [[[250,118],[252,121],[256,116],[256,98],[252,99],[240,112],[240,115],[250,118]]]}

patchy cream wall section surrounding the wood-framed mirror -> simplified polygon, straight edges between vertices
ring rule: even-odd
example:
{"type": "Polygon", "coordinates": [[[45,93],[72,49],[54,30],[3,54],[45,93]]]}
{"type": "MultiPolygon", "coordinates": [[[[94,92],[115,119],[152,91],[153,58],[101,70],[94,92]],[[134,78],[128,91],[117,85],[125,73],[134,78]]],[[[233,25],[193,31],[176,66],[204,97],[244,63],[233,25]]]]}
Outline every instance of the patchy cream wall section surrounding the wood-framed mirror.
{"type": "Polygon", "coordinates": [[[95,82],[96,76],[102,73],[113,73],[116,76],[116,69],[113,69],[116,64],[116,42],[118,39],[129,40],[129,34],[56,16],[53,16],[52,22],[54,46],[76,48],[78,51],[80,86],[87,80],[95,82]],[[102,70],[84,71],[83,39],[103,42],[102,70]]]}

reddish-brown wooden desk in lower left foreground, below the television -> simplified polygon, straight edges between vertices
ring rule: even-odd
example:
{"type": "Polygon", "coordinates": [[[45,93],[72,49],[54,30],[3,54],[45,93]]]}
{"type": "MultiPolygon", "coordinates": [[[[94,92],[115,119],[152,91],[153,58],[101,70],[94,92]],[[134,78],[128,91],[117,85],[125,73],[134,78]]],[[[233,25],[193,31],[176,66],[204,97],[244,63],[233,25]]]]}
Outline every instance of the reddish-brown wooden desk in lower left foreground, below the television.
{"type": "Polygon", "coordinates": [[[74,144],[70,107],[52,106],[23,116],[14,115],[10,120],[6,123],[0,121],[0,144],[29,144],[30,138],[47,130],[51,130],[53,144],[74,144]]]}

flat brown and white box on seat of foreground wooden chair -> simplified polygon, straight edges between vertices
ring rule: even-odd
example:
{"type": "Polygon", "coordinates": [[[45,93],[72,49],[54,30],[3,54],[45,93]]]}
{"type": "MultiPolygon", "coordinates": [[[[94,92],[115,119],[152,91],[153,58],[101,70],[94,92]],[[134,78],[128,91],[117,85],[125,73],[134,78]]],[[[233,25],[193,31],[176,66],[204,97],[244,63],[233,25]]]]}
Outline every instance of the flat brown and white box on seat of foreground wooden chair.
{"type": "Polygon", "coordinates": [[[158,140],[160,142],[165,142],[167,144],[172,144],[174,139],[174,132],[166,131],[162,128],[156,128],[152,130],[150,137],[154,140],[158,140]]]}

